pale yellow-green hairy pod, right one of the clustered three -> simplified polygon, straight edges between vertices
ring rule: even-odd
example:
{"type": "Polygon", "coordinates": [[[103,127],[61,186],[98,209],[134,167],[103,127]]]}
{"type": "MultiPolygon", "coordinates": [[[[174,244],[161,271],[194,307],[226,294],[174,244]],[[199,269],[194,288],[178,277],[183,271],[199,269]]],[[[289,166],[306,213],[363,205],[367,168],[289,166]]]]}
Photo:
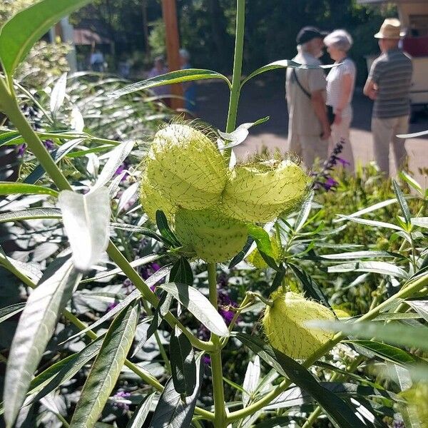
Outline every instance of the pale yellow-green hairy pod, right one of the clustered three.
{"type": "Polygon", "coordinates": [[[238,220],[267,223],[304,198],[309,178],[291,161],[237,165],[223,192],[223,210],[238,220]]]}

